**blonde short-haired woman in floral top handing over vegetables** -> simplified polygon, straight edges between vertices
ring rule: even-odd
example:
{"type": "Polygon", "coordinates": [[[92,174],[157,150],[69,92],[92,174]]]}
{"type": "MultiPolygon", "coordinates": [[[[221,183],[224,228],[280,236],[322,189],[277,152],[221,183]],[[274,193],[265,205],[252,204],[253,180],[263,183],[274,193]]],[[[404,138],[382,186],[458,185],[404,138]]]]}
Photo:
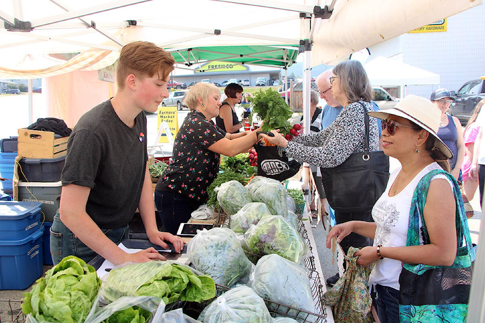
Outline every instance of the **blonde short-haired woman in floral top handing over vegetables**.
{"type": "Polygon", "coordinates": [[[220,154],[234,156],[257,141],[256,131],[230,134],[214,124],[220,96],[219,89],[207,83],[197,83],[186,93],[184,102],[190,112],[175,138],[172,163],[155,190],[164,230],[172,234],[207,201],[207,188],[219,171],[220,154]]]}

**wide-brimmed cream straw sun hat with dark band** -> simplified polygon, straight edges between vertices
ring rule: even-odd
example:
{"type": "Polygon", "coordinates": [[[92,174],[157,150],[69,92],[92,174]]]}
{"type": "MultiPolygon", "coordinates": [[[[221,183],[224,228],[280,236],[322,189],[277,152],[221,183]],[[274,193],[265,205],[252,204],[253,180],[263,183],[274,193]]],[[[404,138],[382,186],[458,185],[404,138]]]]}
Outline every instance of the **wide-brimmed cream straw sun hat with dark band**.
{"type": "Polygon", "coordinates": [[[436,134],[440,129],[441,111],[438,106],[431,103],[424,97],[409,94],[402,101],[399,101],[392,109],[374,111],[367,113],[377,119],[387,119],[393,115],[407,119],[434,136],[434,146],[440,149],[448,158],[453,157],[453,153],[436,134]]]}

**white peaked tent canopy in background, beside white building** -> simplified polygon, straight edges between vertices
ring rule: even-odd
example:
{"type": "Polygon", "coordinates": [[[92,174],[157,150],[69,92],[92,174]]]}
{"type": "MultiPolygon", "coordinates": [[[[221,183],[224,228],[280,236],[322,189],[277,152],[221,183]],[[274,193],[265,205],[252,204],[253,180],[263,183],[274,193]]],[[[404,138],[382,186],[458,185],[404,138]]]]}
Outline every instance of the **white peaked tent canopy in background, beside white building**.
{"type": "Polygon", "coordinates": [[[382,56],[364,64],[372,85],[440,84],[440,75],[382,56]]]}

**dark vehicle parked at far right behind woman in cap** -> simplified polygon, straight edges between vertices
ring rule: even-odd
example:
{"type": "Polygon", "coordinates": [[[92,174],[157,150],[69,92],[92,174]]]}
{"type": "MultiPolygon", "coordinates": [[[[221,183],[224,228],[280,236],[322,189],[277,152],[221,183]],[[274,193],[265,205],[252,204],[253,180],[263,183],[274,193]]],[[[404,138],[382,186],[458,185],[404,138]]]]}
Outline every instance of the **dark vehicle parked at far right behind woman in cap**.
{"type": "Polygon", "coordinates": [[[456,93],[451,91],[451,94],[454,95],[455,101],[451,103],[449,114],[457,117],[461,124],[465,125],[470,119],[475,105],[485,98],[485,80],[468,81],[456,93]]]}

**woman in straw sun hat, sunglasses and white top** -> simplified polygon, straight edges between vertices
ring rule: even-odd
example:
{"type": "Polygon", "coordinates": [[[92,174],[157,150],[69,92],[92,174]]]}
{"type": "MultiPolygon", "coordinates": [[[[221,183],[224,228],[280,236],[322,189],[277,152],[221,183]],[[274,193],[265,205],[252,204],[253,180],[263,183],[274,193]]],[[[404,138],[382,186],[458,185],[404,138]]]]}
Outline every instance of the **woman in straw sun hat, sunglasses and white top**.
{"type": "MultiPolygon", "coordinates": [[[[369,286],[376,291],[374,299],[381,322],[399,322],[400,314],[403,315],[399,308],[403,263],[451,266],[457,255],[455,220],[464,217],[460,206],[463,202],[456,180],[448,173],[429,174],[427,195],[424,190],[419,191],[424,194],[421,195],[425,203],[422,213],[429,241],[423,244],[421,238],[420,245],[410,245],[407,241],[410,213],[414,216],[414,205],[418,203],[418,194],[413,197],[415,189],[420,187],[418,183],[434,170],[450,170],[448,158],[453,154],[437,135],[440,114],[431,101],[416,95],[406,96],[393,109],[368,113],[382,119],[384,153],[397,158],[402,166],[391,174],[384,193],[372,209],[375,222],[339,224],[326,238],[328,248],[332,238],[336,237],[339,242],[351,232],[374,240],[373,246],[364,247],[355,255],[359,256],[357,263],[364,266],[376,261],[369,286]]],[[[469,236],[467,226],[458,231],[469,236]]],[[[465,302],[468,302],[467,296],[465,302]]]]}

